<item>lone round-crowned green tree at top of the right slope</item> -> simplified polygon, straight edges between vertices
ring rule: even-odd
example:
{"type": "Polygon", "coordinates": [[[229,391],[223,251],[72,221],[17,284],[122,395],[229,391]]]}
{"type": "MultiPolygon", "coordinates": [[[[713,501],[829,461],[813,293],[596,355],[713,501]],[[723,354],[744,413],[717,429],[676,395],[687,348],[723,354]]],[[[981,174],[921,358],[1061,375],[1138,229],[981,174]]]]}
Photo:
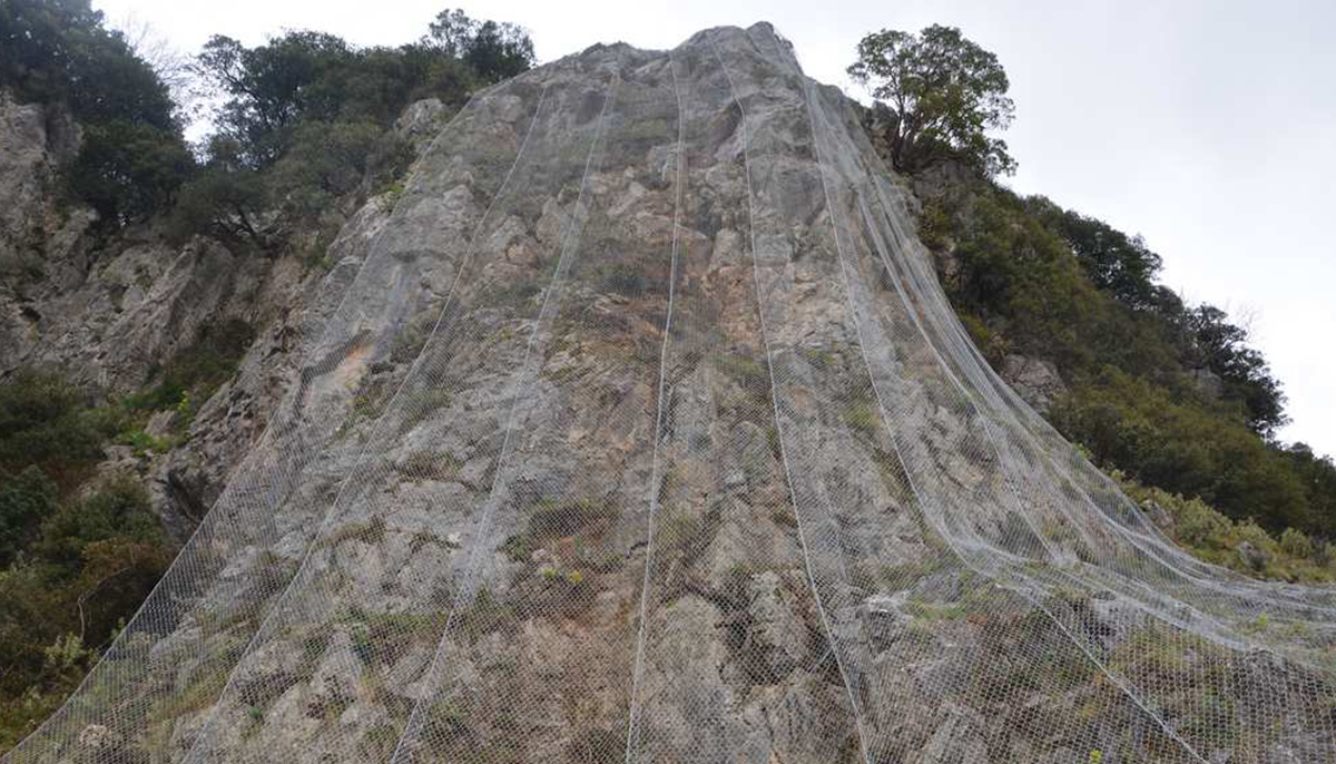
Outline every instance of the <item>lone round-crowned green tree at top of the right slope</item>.
{"type": "Polygon", "coordinates": [[[874,32],[858,44],[848,73],[878,102],[874,119],[895,170],[912,172],[955,155],[989,175],[1015,171],[1006,143],[986,134],[1005,130],[1015,112],[1006,72],[959,29],[934,24],[919,35],[874,32]]]}

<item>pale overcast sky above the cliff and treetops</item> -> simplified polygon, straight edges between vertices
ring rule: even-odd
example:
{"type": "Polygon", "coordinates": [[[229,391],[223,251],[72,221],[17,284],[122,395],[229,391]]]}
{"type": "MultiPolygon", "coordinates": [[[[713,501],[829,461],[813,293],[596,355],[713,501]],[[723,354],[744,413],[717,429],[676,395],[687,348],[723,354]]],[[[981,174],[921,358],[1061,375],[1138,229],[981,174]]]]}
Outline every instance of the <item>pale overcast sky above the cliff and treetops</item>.
{"type": "Polygon", "coordinates": [[[398,44],[448,4],[524,24],[542,61],[619,40],[668,48],[705,27],[767,20],[810,75],[846,89],[866,32],[961,27],[1011,79],[1013,187],[1142,234],[1164,256],[1165,283],[1253,314],[1289,395],[1283,437],[1336,454],[1336,3],[94,1],[187,52],[212,33],[257,44],[283,28],[398,44]]]}

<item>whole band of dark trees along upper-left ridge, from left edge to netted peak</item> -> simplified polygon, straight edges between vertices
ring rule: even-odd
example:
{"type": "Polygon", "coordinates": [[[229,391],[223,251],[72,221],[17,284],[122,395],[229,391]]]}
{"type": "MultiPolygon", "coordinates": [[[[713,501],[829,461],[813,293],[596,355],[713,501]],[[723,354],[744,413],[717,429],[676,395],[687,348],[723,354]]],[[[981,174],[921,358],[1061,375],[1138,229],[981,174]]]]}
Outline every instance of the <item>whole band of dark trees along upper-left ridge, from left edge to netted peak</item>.
{"type": "Polygon", "coordinates": [[[261,219],[275,206],[311,220],[361,200],[407,164],[390,130],[405,106],[458,108],[533,63],[520,27],[450,9],[399,47],[290,31],[248,48],[218,35],[192,67],[195,89],[220,100],[215,132],[192,154],[164,77],[90,0],[0,4],[0,88],[67,110],[81,128],[63,168],[71,196],[112,227],[172,211],[182,238],[271,244],[261,219]]]}

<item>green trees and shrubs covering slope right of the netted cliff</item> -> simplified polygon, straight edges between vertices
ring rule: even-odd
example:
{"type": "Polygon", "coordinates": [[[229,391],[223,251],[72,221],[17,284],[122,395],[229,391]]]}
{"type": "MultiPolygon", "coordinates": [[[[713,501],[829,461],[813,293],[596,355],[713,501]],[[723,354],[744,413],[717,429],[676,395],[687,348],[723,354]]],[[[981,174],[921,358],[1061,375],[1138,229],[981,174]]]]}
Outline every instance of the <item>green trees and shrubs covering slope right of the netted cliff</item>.
{"type": "Polygon", "coordinates": [[[1050,418],[1069,439],[1236,521],[1336,537],[1336,463],[1276,441],[1285,395],[1246,329],[1157,283],[1140,236],[994,182],[1013,167],[987,135],[1013,116],[997,56],[949,27],[883,29],[848,72],[925,202],[919,232],[962,322],[999,369],[1013,353],[1055,363],[1070,393],[1050,418]]]}

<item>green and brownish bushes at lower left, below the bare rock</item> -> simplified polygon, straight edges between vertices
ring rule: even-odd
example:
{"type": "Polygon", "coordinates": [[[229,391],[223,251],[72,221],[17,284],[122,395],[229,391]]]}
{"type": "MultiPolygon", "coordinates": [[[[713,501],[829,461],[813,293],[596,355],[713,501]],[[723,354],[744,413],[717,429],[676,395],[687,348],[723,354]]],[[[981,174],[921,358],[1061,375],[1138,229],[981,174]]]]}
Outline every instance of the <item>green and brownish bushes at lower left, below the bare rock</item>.
{"type": "Polygon", "coordinates": [[[140,478],[95,474],[106,447],[143,455],[186,438],[251,339],[222,322],[152,385],[102,406],[53,373],[0,382],[0,751],[75,688],[175,553],[140,478]],[[155,437],[144,427],[158,411],[174,418],[155,437]]]}

